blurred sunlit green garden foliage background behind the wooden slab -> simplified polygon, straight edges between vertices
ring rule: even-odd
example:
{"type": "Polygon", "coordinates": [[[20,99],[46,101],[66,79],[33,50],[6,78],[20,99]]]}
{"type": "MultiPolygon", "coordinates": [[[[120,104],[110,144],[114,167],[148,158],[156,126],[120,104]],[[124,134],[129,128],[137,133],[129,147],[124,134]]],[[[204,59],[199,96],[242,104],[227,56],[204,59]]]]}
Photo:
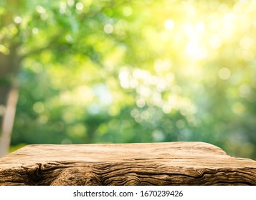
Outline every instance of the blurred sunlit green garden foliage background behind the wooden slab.
{"type": "Polygon", "coordinates": [[[205,141],[256,159],[256,1],[1,0],[0,122],[9,151],[205,141]]]}

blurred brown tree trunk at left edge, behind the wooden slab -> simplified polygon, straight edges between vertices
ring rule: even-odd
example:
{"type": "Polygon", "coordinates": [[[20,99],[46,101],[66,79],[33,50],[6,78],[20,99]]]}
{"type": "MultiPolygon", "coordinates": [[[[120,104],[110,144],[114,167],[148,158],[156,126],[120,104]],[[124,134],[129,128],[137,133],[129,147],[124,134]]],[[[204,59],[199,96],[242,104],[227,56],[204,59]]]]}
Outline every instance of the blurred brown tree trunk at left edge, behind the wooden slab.
{"type": "Polygon", "coordinates": [[[8,55],[0,54],[0,157],[9,151],[11,131],[14,124],[18,84],[16,76],[19,71],[19,56],[16,48],[10,48],[8,55]]]}

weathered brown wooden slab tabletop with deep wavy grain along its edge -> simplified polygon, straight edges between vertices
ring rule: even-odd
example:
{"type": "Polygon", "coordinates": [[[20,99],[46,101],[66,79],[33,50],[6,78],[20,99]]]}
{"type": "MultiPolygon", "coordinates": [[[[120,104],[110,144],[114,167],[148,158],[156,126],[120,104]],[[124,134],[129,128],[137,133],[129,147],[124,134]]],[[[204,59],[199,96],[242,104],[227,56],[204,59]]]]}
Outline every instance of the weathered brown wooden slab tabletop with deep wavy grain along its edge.
{"type": "Polygon", "coordinates": [[[0,159],[0,185],[256,185],[256,161],[202,142],[29,145],[0,159]]]}

